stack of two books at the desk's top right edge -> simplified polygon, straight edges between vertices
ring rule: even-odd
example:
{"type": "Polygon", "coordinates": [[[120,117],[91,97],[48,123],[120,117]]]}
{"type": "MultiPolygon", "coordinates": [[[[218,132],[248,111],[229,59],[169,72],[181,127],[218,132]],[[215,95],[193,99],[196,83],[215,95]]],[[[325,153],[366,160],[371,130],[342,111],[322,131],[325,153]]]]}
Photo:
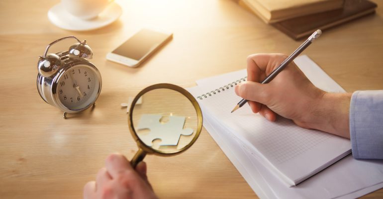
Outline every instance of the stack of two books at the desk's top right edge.
{"type": "Polygon", "coordinates": [[[375,13],[369,0],[239,0],[239,5],[298,40],[317,29],[328,29],[375,13]]]}

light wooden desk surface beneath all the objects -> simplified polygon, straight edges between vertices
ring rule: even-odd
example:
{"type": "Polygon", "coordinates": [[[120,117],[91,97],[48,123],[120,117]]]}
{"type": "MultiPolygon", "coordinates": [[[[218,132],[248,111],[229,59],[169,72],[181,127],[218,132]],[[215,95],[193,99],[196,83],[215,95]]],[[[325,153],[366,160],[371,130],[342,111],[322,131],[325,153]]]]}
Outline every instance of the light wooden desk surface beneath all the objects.
{"type": "MultiPolygon", "coordinates": [[[[155,83],[191,87],[195,80],[245,68],[249,54],[289,54],[301,43],[232,0],[120,0],[119,20],[87,32],[49,22],[47,11],[58,2],[0,2],[2,199],[81,198],[108,154],[130,159],[137,151],[120,107],[129,96],[155,83]],[[141,27],[172,31],[174,38],[140,68],[106,61],[107,52],[141,27]],[[103,85],[93,111],[64,120],[40,98],[36,64],[48,43],[68,35],[87,39],[103,85]]],[[[383,1],[376,2],[377,14],[325,31],[305,51],[348,92],[383,89],[383,1]]],[[[160,198],[257,198],[205,129],[182,155],[145,161],[160,198]]],[[[365,196],[374,197],[383,197],[383,190],[365,196]]]]}

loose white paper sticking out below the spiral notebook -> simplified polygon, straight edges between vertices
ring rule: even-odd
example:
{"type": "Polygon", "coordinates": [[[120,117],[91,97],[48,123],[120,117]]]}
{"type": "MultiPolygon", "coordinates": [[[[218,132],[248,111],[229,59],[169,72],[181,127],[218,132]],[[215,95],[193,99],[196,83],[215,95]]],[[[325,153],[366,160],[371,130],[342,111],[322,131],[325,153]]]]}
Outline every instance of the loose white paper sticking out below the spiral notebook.
{"type": "Polygon", "coordinates": [[[210,121],[204,118],[204,127],[261,199],[353,199],[383,188],[383,160],[355,160],[352,156],[288,188],[224,128],[210,121]]]}

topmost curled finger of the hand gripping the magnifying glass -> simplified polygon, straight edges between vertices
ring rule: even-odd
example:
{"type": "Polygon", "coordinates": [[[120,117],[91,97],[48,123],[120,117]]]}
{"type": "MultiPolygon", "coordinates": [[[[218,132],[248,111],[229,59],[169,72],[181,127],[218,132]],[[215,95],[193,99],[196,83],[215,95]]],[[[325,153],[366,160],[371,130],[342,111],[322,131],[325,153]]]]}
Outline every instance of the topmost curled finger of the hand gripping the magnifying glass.
{"type": "Polygon", "coordinates": [[[118,177],[119,173],[133,170],[129,161],[121,154],[110,154],[105,160],[105,167],[112,179],[118,177]]]}

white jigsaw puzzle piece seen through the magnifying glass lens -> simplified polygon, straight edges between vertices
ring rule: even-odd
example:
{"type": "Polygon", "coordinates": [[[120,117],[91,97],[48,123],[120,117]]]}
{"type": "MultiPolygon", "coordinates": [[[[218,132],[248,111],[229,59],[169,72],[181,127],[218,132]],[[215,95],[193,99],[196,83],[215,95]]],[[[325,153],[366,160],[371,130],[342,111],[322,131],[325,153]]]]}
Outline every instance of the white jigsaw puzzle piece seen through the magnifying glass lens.
{"type": "Polygon", "coordinates": [[[162,115],[143,114],[141,115],[137,131],[149,129],[146,134],[138,133],[139,138],[147,145],[152,146],[153,140],[161,139],[160,146],[176,146],[181,135],[191,135],[193,129],[185,128],[185,117],[169,116],[167,123],[161,123],[162,115]]]}

